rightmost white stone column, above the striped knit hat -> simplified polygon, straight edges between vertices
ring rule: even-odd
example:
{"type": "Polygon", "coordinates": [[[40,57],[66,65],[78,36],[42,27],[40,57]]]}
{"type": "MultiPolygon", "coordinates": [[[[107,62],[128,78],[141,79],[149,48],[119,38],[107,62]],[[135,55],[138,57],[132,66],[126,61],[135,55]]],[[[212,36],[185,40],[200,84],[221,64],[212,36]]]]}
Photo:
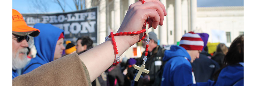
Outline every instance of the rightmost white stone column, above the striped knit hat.
{"type": "Polygon", "coordinates": [[[190,0],[190,18],[190,31],[195,31],[197,19],[197,0],[190,0]]]}

